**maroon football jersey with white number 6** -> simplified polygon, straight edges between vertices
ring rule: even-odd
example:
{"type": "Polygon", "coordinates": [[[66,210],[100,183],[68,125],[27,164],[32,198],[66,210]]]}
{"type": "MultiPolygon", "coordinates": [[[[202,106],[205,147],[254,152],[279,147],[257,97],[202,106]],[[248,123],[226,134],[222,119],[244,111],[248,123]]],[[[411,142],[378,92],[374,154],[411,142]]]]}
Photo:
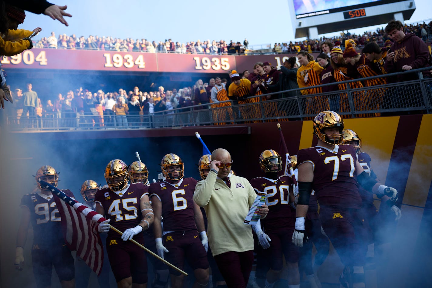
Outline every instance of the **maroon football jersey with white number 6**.
{"type": "Polygon", "coordinates": [[[194,178],[183,178],[175,185],[168,182],[150,184],[150,196],[162,202],[164,231],[197,230],[192,200],[196,185],[197,180],[194,178]]]}

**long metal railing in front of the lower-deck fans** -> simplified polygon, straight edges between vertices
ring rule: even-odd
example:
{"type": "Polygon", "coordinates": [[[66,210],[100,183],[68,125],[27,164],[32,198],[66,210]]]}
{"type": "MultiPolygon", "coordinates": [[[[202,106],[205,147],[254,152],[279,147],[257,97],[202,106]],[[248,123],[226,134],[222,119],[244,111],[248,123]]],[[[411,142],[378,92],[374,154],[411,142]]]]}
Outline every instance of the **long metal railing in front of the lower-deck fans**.
{"type": "MultiPolygon", "coordinates": [[[[181,127],[194,125],[229,125],[236,123],[257,123],[310,119],[324,110],[334,110],[343,118],[370,117],[379,115],[400,115],[407,112],[432,113],[432,78],[423,79],[420,68],[405,72],[347,80],[337,83],[307,87],[335,86],[346,83],[346,90],[328,93],[300,95],[293,89],[249,97],[245,104],[229,100],[177,108],[152,114],[104,115],[76,114],[76,117],[48,115],[35,118],[6,117],[11,131],[62,131],[62,130],[109,130],[181,127]],[[416,73],[419,79],[352,89],[354,82],[405,76],[416,73]],[[298,96],[284,97],[297,93],[298,96]],[[263,101],[267,95],[280,98],[263,101]],[[384,114],[385,113],[385,114],[384,114]]],[[[74,115],[75,116],[75,113],[74,115]]]]}

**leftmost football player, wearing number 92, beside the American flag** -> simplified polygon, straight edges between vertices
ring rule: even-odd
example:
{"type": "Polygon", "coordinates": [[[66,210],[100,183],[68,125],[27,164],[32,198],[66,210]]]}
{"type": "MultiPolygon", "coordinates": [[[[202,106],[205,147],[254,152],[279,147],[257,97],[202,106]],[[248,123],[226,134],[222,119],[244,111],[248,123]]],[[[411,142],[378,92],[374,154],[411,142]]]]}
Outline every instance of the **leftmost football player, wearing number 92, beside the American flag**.
{"type": "MultiPolygon", "coordinates": [[[[51,166],[42,166],[36,172],[36,181],[43,180],[57,187],[58,173],[51,166]]],[[[27,240],[29,224],[33,227],[32,264],[36,287],[51,287],[54,265],[61,286],[75,287],[73,256],[66,246],[58,212],[51,190],[44,189],[37,182],[38,192],[21,198],[22,217],[16,236],[15,268],[23,269],[23,250],[27,240]]],[[[62,190],[74,197],[70,190],[62,190]]]]}

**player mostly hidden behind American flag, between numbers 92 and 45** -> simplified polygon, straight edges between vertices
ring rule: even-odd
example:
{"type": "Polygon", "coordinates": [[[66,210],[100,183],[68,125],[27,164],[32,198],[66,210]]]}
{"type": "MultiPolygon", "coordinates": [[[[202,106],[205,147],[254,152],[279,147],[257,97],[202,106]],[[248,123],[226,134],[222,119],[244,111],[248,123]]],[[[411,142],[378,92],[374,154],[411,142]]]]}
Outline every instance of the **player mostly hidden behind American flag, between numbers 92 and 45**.
{"type": "MultiPolygon", "coordinates": [[[[84,199],[84,205],[86,205],[87,207],[93,210],[96,210],[95,195],[98,189],[99,189],[98,183],[91,179],[84,181],[83,185],[81,185],[80,192],[81,192],[81,196],[83,196],[84,199]]],[[[104,241],[106,242],[106,238],[107,238],[106,233],[99,234],[99,236],[102,239],[102,243],[104,241]]],[[[106,256],[107,255],[106,245],[103,246],[103,249],[104,249],[105,257],[104,257],[104,263],[102,266],[101,274],[98,276],[98,283],[99,283],[99,287],[101,288],[103,287],[109,288],[110,269],[109,269],[108,257],[106,256]]],[[[76,278],[76,287],[87,287],[89,285],[89,278],[92,269],[90,269],[90,267],[86,264],[86,262],[83,261],[83,259],[76,256],[75,270],[76,270],[76,274],[79,275],[79,277],[76,278]]]]}

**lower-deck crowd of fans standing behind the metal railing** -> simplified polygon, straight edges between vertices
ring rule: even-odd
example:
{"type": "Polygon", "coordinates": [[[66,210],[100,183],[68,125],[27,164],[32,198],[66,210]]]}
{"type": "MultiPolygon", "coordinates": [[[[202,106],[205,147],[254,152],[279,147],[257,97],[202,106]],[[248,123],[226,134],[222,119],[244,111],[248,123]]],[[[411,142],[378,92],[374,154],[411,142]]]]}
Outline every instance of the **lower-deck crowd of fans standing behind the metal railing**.
{"type": "MultiPolygon", "coordinates": [[[[338,92],[339,90],[346,90],[346,84],[337,84],[338,82],[359,79],[359,81],[351,83],[351,88],[384,85],[411,78],[415,79],[416,75],[405,75],[403,79],[400,77],[382,77],[362,80],[362,78],[384,76],[392,72],[431,66],[431,57],[426,44],[412,33],[405,34],[406,31],[404,32],[403,29],[402,23],[389,22],[386,27],[386,35],[389,39],[384,42],[384,47],[380,47],[378,38],[372,38],[363,46],[361,54],[357,52],[357,44],[352,39],[346,40],[344,49],[340,42],[324,42],[321,46],[322,53],[316,59],[307,51],[301,50],[297,53],[297,57],[293,56],[287,59],[283,66],[279,67],[279,70],[270,62],[258,62],[254,64],[254,67],[251,67],[251,71],[245,70],[241,74],[236,70],[230,71],[229,78],[231,81],[216,77],[205,83],[199,79],[194,85],[180,89],[165,90],[163,86],[159,86],[158,90],[145,92],[140,91],[136,86],[129,92],[123,88],[118,91],[105,92],[102,90],[91,91],[80,87],[75,91],[68,91],[66,95],[58,94],[55,99],[47,99],[44,103],[38,99],[29,83],[27,92],[22,93],[21,89],[14,91],[16,94],[14,95],[16,121],[19,121],[23,113],[26,116],[37,118],[79,118],[84,115],[94,115],[95,117],[91,121],[93,126],[103,126],[113,122],[114,116],[120,126],[128,126],[127,115],[151,115],[155,112],[173,114],[175,113],[173,109],[199,104],[210,104],[208,107],[218,108],[319,93],[327,93],[328,96],[319,99],[318,97],[311,97],[311,100],[305,104],[305,114],[311,114],[318,108],[346,112],[349,111],[347,94],[338,92]],[[410,57],[405,57],[404,61],[400,59],[401,55],[397,52],[400,39],[403,40],[402,42],[406,42],[403,45],[410,54],[410,57]],[[393,43],[392,40],[397,41],[397,43],[393,43]],[[399,61],[394,61],[395,57],[399,58],[399,61]],[[313,87],[328,83],[335,83],[335,85],[313,87]],[[256,97],[297,88],[304,89],[256,97]],[[232,100],[232,102],[224,102],[228,100],[232,100]]],[[[422,74],[423,77],[427,78],[430,77],[431,72],[425,70],[422,74]]],[[[206,79],[204,80],[206,81],[206,79]]],[[[368,91],[355,92],[355,94],[355,106],[360,111],[372,108],[397,108],[395,103],[398,101],[397,97],[387,91],[386,88],[378,87],[368,91]]],[[[410,96],[405,95],[405,97],[410,96]]],[[[287,112],[281,111],[276,107],[276,104],[273,106],[266,105],[266,107],[265,109],[269,110],[267,112],[273,113],[273,115],[280,116],[280,118],[287,116],[287,112]]],[[[200,109],[204,108],[201,107],[200,109]]],[[[228,114],[226,111],[213,111],[213,120],[214,122],[221,120],[220,123],[222,123],[233,118],[254,118],[248,115],[251,113],[254,113],[253,109],[246,111],[242,108],[233,108],[232,112],[228,112],[228,114]]],[[[13,112],[11,116],[14,116],[13,112]]]]}

